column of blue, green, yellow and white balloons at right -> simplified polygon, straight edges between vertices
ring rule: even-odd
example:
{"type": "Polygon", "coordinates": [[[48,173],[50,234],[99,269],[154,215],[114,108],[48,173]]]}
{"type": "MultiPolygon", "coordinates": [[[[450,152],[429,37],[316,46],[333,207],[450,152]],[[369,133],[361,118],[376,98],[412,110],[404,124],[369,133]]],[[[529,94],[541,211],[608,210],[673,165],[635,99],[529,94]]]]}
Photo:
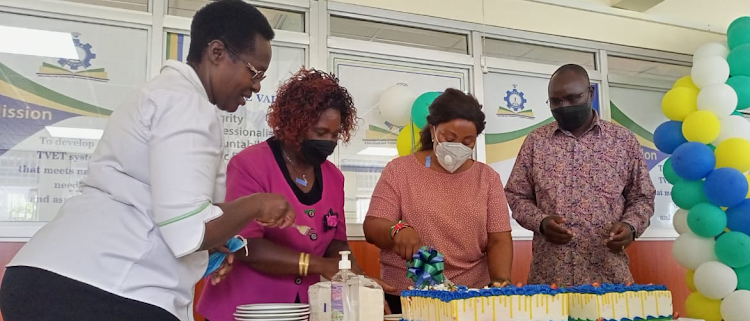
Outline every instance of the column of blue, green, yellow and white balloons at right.
{"type": "Polygon", "coordinates": [[[750,320],[750,17],[729,26],[726,43],[693,55],[691,75],[664,95],[669,121],[654,144],[671,154],[664,177],[680,207],[672,252],[691,291],[687,317],[750,320]]]}

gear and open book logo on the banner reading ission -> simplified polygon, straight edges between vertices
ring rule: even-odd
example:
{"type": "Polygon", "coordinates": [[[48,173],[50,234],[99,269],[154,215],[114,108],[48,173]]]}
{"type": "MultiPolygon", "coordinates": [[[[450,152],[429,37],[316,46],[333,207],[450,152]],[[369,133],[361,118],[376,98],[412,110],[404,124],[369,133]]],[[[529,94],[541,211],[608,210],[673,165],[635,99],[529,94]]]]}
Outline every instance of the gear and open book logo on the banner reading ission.
{"type": "Polygon", "coordinates": [[[39,67],[39,77],[76,78],[95,81],[109,81],[104,68],[91,68],[91,60],[96,59],[96,54],[91,50],[90,43],[82,42],[81,34],[74,32],[73,45],[78,51],[78,59],[60,58],[57,64],[43,63],[39,67]]]}

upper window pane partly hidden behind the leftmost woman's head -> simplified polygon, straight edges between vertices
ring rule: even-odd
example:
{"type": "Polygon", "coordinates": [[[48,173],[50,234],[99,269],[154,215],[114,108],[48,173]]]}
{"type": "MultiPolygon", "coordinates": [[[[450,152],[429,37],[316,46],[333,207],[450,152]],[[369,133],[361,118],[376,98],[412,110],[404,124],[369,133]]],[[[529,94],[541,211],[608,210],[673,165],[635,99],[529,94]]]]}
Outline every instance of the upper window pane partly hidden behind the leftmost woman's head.
{"type": "MultiPolygon", "coordinates": [[[[146,0],[128,0],[128,1],[146,1],[146,0]]],[[[167,14],[192,18],[198,9],[208,4],[208,0],[169,0],[167,14]]],[[[260,12],[271,23],[271,27],[276,30],[305,32],[305,14],[303,12],[271,9],[258,7],[260,12]]]]}

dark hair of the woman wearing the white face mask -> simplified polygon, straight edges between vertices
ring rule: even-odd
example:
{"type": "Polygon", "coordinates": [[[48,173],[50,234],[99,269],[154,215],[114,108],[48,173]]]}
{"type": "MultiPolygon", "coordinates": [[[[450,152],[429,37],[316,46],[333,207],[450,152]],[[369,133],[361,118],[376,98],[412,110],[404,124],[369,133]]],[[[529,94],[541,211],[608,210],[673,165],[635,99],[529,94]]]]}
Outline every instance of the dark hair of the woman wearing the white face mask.
{"type": "Polygon", "coordinates": [[[482,105],[471,94],[448,88],[435,98],[430,105],[430,114],[427,115],[427,126],[422,128],[420,150],[432,150],[432,133],[430,126],[437,126],[455,119],[464,119],[474,123],[477,127],[477,135],[484,131],[485,121],[482,105]]]}

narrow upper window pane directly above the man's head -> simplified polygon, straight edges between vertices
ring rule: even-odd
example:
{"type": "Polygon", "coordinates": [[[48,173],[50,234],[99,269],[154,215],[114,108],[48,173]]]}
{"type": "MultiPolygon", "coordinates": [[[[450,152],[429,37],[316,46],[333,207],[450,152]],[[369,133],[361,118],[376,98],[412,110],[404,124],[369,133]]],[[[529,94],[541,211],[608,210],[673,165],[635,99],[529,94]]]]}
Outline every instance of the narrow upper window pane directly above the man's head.
{"type": "Polygon", "coordinates": [[[574,63],[589,70],[598,70],[598,67],[596,66],[596,55],[593,52],[562,49],[508,40],[485,38],[484,55],[488,57],[547,65],[574,63]]]}

